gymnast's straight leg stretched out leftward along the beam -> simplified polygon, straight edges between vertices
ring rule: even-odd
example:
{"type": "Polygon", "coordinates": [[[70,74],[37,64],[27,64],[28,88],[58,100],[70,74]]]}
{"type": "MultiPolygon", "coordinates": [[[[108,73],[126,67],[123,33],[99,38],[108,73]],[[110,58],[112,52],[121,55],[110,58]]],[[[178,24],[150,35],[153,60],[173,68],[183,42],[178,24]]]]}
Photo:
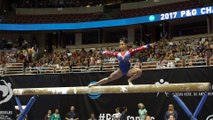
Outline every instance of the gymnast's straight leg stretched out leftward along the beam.
{"type": "Polygon", "coordinates": [[[95,84],[89,84],[89,87],[106,84],[106,83],[108,83],[110,81],[119,79],[122,76],[123,76],[123,74],[122,74],[121,70],[117,69],[116,71],[114,71],[113,73],[111,73],[109,77],[103,78],[103,79],[101,79],[100,81],[98,81],[95,84]]]}

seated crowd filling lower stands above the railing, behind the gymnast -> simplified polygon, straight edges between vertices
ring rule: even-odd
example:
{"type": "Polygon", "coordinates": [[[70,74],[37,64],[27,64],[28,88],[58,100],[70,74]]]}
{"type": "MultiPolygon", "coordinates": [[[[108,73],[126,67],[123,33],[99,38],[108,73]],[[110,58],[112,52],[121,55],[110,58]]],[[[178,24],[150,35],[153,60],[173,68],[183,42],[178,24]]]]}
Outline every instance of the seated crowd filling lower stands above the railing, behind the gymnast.
{"type": "MultiPolygon", "coordinates": [[[[9,41],[8,41],[9,42],[9,41]]],[[[1,42],[1,46],[4,42],[1,42]]],[[[13,48],[12,42],[6,44],[11,50],[0,51],[0,63],[24,63],[25,67],[45,67],[45,66],[94,66],[103,63],[115,63],[115,57],[104,56],[101,51],[104,48],[85,49],[72,52],[69,49],[64,51],[55,50],[48,53],[46,50],[38,51],[36,47],[30,46],[27,41],[19,42],[13,48]]],[[[118,48],[106,48],[109,51],[118,51],[118,48]]],[[[131,48],[130,48],[131,49],[131,48]]],[[[132,62],[154,62],[158,61],[158,68],[175,67],[176,62],[188,61],[187,66],[193,66],[193,61],[199,61],[199,65],[204,60],[213,57],[213,41],[207,38],[197,38],[189,40],[168,41],[161,39],[155,49],[142,51],[132,56],[132,62]]]]}

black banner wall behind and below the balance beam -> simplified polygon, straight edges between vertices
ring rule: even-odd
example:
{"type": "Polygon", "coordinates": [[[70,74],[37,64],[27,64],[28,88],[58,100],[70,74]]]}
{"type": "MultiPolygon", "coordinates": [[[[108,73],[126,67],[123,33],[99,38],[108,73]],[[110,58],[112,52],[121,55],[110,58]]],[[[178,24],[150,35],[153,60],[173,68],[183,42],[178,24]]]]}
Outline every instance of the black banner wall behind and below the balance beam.
{"type": "MultiPolygon", "coordinates": [[[[189,82],[211,82],[213,67],[161,69],[143,71],[141,77],[134,84],[170,84],[189,82]]],[[[16,115],[15,99],[11,99],[10,88],[35,87],[71,87],[87,86],[92,81],[98,81],[110,75],[109,72],[70,73],[51,75],[11,76],[3,77],[0,95],[0,120],[10,120],[16,115]],[[10,99],[9,99],[10,98],[10,99]],[[3,119],[4,118],[4,119],[3,119]]],[[[122,77],[107,85],[127,84],[127,77],[122,77]]],[[[188,117],[174,101],[172,95],[179,96],[193,113],[202,98],[203,92],[180,93],[143,93],[143,94],[90,94],[90,95],[55,95],[39,96],[28,114],[28,120],[43,120],[48,109],[59,109],[62,119],[69,111],[71,105],[76,107],[80,120],[87,120],[91,112],[99,120],[112,120],[111,115],[116,107],[128,107],[128,119],[139,120],[137,104],[142,102],[153,120],[164,120],[168,104],[172,103],[178,112],[178,120],[188,117]]],[[[26,105],[31,96],[19,96],[22,105],[26,105]]],[[[213,92],[208,92],[207,101],[202,108],[198,119],[211,120],[213,118],[213,92]]],[[[13,119],[14,120],[14,119],[13,119]]]]}

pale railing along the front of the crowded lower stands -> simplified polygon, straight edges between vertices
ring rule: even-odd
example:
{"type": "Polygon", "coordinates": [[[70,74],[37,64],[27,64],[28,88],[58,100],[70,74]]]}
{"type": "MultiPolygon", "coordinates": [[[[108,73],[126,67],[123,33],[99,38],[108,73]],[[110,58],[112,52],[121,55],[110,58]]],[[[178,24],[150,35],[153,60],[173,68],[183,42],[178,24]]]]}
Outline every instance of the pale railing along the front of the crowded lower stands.
{"type": "MultiPolygon", "coordinates": [[[[156,69],[174,69],[174,68],[190,68],[190,67],[207,67],[213,66],[213,57],[207,59],[187,59],[187,60],[169,60],[169,61],[152,61],[142,62],[142,70],[156,69]]],[[[32,74],[61,74],[70,72],[100,72],[115,71],[118,69],[118,62],[104,62],[100,65],[91,66],[58,66],[49,65],[43,67],[26,67],[23,63],[7,63],[4,67],[0,66],[0,75],[32,75],[32,74]]],[[[131,64],[135,67],[135,62],[131,64]]]]}

